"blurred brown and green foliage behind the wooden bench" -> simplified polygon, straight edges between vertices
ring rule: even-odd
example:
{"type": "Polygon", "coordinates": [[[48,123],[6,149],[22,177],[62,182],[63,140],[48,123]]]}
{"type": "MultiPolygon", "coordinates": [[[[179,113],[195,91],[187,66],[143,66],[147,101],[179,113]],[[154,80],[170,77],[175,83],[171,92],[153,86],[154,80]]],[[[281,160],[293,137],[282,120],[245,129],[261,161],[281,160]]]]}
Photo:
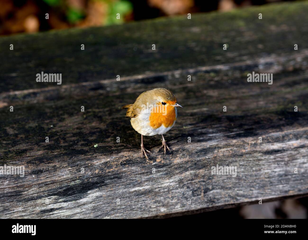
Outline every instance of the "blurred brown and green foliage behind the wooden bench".
{"type": "Polygon", "coordinates": [[[281,0],[0,0],[0,35],[228,11],[281,0]],[[46,14],[48,13],[48,19],[46,14]],[[116,14],[120,19],[116,19],[116,14]]]}

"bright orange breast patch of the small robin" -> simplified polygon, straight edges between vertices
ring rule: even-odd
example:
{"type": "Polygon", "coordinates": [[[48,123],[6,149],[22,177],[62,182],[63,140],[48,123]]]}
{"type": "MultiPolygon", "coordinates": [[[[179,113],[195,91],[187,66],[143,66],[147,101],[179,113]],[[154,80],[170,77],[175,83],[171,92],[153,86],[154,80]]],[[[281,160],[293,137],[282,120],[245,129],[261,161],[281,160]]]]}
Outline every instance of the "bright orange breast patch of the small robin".
{"type": "Polygon", "coordinates": [[[165,107],[160,103],[157,103],[156,106],[158,107],[156,107],[156,110],[154,109],[151,112],[149,117],[150,126],[155,129],[159,128],[161,125],[164,127],[171,127],[173,122],[176,120],[174,107],[165,107]]]}

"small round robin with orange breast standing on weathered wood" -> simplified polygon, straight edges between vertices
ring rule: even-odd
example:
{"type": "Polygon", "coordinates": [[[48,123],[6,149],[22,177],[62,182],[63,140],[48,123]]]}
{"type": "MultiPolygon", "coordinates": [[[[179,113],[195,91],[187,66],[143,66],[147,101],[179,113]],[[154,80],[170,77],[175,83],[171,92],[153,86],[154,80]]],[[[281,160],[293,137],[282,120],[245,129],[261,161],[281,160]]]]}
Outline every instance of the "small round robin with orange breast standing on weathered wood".
{"type": "Polygon", "coordinates": [[[174,94],[165,88],[155,88],[145,91],[137,97],[133,104],[128,104],[122,109],[128,108],[125,117],[130,118],[131,125],[139,134],[141,134],[141,157],[143,154],[147,160],[148,153],[143,144],[143,136],[154,136],[160,134],[162,136],[162,146],[158,149],[166,148],[171,152],[164,133],[168,132],[176,122],[176,108],[183,108],[176,102],[174,94]]]}

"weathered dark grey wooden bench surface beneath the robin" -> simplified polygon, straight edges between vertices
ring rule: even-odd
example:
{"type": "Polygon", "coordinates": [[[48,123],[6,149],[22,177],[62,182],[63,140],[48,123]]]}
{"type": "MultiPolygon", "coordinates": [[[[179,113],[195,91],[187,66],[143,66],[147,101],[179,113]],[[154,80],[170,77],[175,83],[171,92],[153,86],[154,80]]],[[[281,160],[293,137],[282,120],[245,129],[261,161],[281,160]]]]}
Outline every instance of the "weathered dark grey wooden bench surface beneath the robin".
{"type": "Polygon", "coordinates": [[[0,38],[0,166],[26,171],[0,175],[0,217],[160,218],[307,196],[307,10],[273,4],[0,38]],[[41,71],[63,84],[36,83],[41,71]],[[273,73],[273,85],[248,83],[252,71],[273,73]],[[172,153],[144,138],[148,162],[120,108],[158,87],[184,108],[164,135],[172,153]],[[212,175],[216,164],[237,176],[212,175]]]}

